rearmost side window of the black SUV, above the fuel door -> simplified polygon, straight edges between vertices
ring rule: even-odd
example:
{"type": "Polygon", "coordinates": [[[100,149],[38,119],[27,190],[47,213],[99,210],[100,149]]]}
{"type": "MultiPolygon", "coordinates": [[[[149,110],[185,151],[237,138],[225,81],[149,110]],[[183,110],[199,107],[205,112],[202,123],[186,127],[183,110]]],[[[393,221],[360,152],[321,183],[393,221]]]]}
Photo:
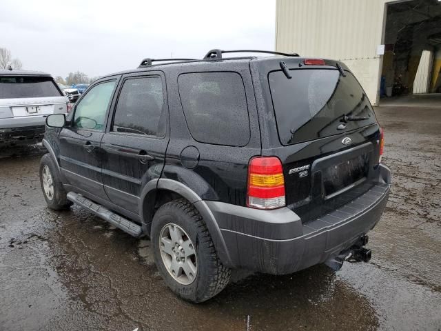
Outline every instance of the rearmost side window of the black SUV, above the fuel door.
{"type": "Polygon", "coordinates": [[[227,146],[247,145],[249,116],[240,74],[181,74],[178,87],[185,120],[196,141],[227,146]]]}

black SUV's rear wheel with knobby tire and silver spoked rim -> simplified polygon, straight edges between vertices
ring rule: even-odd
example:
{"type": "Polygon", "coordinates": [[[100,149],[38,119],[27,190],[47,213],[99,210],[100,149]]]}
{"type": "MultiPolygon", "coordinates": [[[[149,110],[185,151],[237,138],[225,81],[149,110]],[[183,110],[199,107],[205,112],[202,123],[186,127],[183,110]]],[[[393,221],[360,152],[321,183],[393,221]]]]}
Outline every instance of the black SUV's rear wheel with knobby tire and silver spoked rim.
{"type": "MultiPolygon", "coordinates": [[[[151,240],[156,267],[168,287],[179,297],[200,303],[214,297],[227,286],[230,270],[220,262],[207,225],[192,203],[185,199],[178,199],[162,205],[153,218],[151,240]],[[188,250],[194,244],[194,256],[185,256],[183,260],[178,262],[182,263],[180,269],[182,273],[179,280],[173,275],[173,271],[169,271],[172,267],[166,265],[169,254],[165,252],[163,241],[164,239],[169,240],[168,234],[172,238],[172,230],[176,230],[176,228],[180,228],[183,233],[182,238],[185,239],[182,243],[183,248],[188,250]],[[187,264],[188,260],[196,261],[196,275],[191,277],[192,272],[189,272],[190,276],[185,279],[183,265],[187,264]]],[[[171,239],[172,241],[173,239],[171,239]]],[[[173,242],[171,245],[172,248],[175,248],[174,256],[178,259],[176,245],[173,242]]],[[[192,250],[188,252],[191,254],[192,250]]],[[[174,263],[172,255],[170,258],[171,263],[174,263]]]]}

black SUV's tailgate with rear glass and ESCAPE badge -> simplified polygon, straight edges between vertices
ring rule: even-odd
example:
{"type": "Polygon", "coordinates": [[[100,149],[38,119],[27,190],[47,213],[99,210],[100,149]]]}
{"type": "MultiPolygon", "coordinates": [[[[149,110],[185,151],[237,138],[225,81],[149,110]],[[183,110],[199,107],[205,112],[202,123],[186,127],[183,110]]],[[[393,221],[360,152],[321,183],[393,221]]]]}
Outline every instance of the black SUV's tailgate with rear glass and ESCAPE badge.
{"type": "Polygon", "coordinates": [[[267,80],[283,162],[287,205],[302,221],[316,219],[371,186],[378,165],[379,127],[351,72],[293,66],[267,80]]]}

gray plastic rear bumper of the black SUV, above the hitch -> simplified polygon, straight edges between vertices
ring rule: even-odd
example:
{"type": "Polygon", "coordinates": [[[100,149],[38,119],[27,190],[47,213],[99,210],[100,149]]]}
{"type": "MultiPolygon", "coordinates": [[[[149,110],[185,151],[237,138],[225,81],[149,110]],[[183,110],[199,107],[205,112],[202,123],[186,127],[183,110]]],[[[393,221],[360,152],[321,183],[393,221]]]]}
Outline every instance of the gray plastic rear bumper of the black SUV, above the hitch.
{"type": "Polygon", "coordinates": [[[288,274],[336,257],[380,220],[387,204],[391,171],[380,165],[371,190],[307,224],[288,208],[255,210],[205,201],[220,228],[231,268],[288,274]]]}

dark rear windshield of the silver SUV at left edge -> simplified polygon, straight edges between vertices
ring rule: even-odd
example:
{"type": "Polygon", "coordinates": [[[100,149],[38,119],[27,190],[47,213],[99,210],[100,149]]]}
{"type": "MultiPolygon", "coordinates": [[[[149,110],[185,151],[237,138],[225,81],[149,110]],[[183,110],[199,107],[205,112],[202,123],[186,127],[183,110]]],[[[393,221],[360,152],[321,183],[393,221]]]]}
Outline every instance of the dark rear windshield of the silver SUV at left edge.
{"type": "Polygon", "coordinates": [[[0,76],[0,99],[59,97],[52,77],[0,76]]]}

